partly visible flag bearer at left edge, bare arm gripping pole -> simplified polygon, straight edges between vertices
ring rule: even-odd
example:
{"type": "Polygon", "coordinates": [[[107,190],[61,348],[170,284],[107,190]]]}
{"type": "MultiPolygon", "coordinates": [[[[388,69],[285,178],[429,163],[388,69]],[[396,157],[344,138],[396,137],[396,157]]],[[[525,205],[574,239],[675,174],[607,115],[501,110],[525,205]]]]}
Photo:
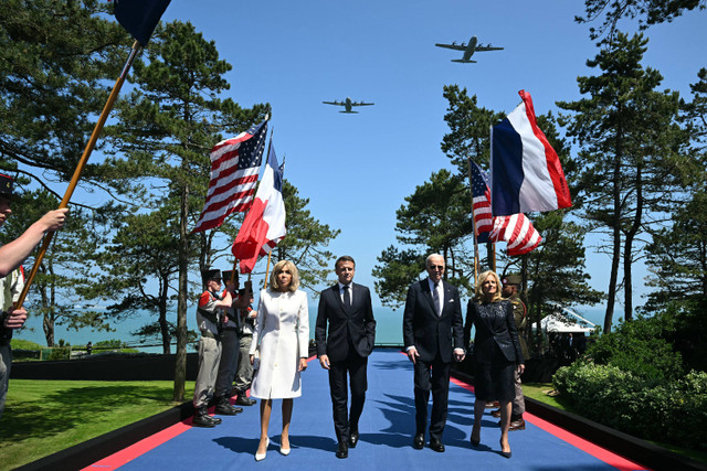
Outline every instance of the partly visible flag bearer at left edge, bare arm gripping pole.
{"type": "MultiPolygon", "coordinates": [[[[10,205],[13,183],[11,176],[0,174],[0,226],[4,225],[12,214],[10,205]]],[[[12,349],[10,347],[12,332],[22,328],[27,320],[24,309],[14,309],[14,303],[20,299],[20,293],[24,288],[24,275],[19,267],[42,240],[44,234],[56,231],[64,225],[67,212],[67,208],[50,211],[20,237],[0,247],[0,309],[2,309],[0,313],[0,417],[4,410],[4,399],[8,395],[8,382],[12,366],[12,349]]]]}

